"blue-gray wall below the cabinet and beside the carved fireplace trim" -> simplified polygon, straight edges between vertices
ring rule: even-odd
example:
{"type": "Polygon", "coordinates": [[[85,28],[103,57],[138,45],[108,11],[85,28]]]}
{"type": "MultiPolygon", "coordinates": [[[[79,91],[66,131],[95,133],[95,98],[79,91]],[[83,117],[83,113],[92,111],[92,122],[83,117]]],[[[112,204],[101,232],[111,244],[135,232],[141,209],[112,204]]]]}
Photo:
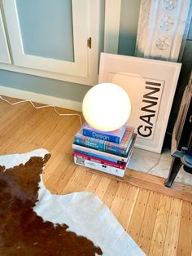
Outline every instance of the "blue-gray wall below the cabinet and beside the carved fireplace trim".
{"type": "MultiPolygon", "coordinates": [[[[120,55],[134,55],[137,36],[137,21],[141,0],[121,0],[120,55]]],[[[0,86],[28,90],[44,95],[81,102],[90,86],[36,77],[0,69],[0,86]]]]}

